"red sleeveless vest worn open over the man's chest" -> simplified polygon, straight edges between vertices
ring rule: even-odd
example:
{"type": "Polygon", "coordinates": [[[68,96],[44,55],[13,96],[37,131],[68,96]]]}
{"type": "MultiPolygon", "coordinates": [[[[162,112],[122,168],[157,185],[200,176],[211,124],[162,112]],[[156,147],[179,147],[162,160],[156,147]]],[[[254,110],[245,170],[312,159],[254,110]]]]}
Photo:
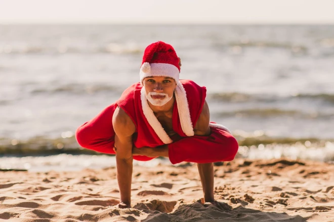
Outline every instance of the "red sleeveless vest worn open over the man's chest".
{"type": "MultiPolygon", "coordinates": [[[[182,97],[179,96],[181,99],[176,99],[174,104],[173,130],[179,135],[178,140],[180,137],[187,137],[187,134],[182,129],[180,120],[180,116],[181,119],[186,119],[186,116],[183,114],[184,112],[180,113],[178,108],[180,106],[187,107],[190,113],[191,122],[186,122],[185,125],[191,125],[190,127],[193,129],[201,113],[206,96],[205,87],[200,87],[191,80],[180,80],[180,82],[185,90],[186,97],[182,100],[182,97]],[[178,102],[180,104],[178,104],[178,102]],[[188,105],[186,103],[188,103],[188,105]]],[[[161,125],[157,126],[159,123],[156,121],[150,121],[150,119],[156,118],[151,111],[152,109],[149,106],[146,106],[142,101],[144,99],[145,102],[147,102],[146,97],[142,95],[142,88],[143,86],[140,83],[136,83],[126,89],[122,93],[121,97],[116,101],[116,104],[129,115],[136,126],[136,135],[133,138],[135,146],[138,148],[144,146],[156,147],[172,142],[163,142],[161,140],[163,135],[161,136],[159,134],[161,131],[155,129],[158,127],[161,130],[161,125]],[[147,111],[147,109],[150,109],[149,111],[151,112],[146,112],[147,114],[145,115],[144,111],[147,111]]],[[[171,139],[175,141],[174,139],[176,138],[173,137],[171,139]]]]}

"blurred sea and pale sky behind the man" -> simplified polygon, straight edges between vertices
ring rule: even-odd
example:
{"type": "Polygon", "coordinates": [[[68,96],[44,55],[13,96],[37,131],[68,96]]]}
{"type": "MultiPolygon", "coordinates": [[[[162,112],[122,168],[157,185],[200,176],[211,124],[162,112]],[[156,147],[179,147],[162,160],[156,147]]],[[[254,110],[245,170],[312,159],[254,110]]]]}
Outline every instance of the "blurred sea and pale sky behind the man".
{"type": "MultiPolygon", "coordinates": [[[[78,126],[170,43],[238,157],[334,160],[333,1],[0,1],[0,168],[115,165],[78,126]]],[[[170,164],[158,158],[142,165],[170,164]]]]}

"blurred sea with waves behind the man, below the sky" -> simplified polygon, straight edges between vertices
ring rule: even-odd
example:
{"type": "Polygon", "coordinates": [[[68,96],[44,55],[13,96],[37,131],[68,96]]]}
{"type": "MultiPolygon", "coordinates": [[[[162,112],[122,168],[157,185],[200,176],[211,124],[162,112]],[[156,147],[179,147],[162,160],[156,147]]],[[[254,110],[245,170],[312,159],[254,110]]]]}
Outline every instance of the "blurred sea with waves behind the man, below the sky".
{"type": "Polygon", "coordinates": [[[334,160],[334,26],[0,25],[0,168],[92,154],[76,128],[139,81],[158,40],[206,86],[239,157],[334,160]]]}

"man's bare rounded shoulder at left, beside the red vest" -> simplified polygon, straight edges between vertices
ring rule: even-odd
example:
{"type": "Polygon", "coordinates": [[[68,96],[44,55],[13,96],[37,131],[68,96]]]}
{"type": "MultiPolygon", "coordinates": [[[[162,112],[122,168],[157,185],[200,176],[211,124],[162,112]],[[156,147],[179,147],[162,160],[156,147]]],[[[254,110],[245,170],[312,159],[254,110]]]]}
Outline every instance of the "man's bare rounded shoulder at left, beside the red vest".
{"type": "Polygon", "coordinates": [[[112,125],[116,135],[129,137],[136,132],[136,126],[129,115],[119,106],[112,116],[112,125]]]}

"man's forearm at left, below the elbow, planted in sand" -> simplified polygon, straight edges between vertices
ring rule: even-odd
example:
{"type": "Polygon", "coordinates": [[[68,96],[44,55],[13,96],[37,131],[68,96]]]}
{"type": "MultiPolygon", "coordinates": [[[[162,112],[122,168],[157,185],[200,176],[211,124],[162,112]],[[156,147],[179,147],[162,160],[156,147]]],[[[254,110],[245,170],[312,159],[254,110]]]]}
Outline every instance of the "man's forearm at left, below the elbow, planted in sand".
{"type": "Polygon", "coordinates": [[[131,182],[132,182],[132,169],[133,169],[133,157],[129,159],[117,158],[117,181],[120,192],[120,202],[131,204],[131,182]]]}

